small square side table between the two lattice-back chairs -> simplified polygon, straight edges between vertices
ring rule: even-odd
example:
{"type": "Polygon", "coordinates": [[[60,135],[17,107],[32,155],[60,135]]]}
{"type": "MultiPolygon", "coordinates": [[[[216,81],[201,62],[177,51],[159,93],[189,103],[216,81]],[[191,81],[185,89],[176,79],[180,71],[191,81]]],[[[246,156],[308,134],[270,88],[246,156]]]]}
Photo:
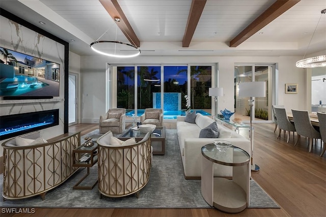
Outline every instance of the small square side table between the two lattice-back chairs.
{"type": "Polygon", "coordinates": [[[91,190],[97,184],[98,179],[91,186],[79,186],[80,183],[90,174],[90,167],[93,167],[97,162],[97,143],[94,142],[94,145],[91,147],[86,147],[85,144],[78,146],[76,149],[72,150],[74,163],[73,167],[86,167],[87,173],[86,175],[80,179],[72,189],[87,189],[91,190]],[[87,161],[80,161],[80,158],[83,156],[89,155],[89,159],[87,161]]]}

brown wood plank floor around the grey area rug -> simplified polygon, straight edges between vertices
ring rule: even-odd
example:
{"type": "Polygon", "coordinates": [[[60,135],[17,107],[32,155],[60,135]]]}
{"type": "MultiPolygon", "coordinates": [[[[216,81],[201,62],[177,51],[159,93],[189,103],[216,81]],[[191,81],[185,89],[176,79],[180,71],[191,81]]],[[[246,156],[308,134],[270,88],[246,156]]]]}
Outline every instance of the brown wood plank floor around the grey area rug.
{"type": "MultiPolygon", "coordinates": [[[[175,128],[167,123],[167,128],[175,128]]],[[[78,124],[69,131],[86,134],[97,129],[97,124],[78,124]]],[[[326,154],[319,157],[320,142],[308,152],[308,142],[301,138],[277,139],[274,124],[254,124],[254,158],[260,166],[252,177],[280,205],[280,209],[248,208],[237,214],[216,209],[75,209],[36,208],[31,214],[4,213],[1,216],[326,216],[326,154]]],[[[248,131],[240,131],[248,138],[248,131]]],[[[296,137],[296,134],[295,134],[296,137]]],[[[32,207],[30,207],[32,208],[32,207]]]]}

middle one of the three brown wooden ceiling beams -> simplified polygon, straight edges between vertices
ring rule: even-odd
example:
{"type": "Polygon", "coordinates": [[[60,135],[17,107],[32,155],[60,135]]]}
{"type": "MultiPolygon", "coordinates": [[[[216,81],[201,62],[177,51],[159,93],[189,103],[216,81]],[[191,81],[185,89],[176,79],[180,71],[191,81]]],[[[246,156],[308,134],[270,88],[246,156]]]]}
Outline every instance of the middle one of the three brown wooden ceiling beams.
{"type": "Polygon", "coordinates": [[[182,47],[189,47],[194,36],[198,21],[204,10],[206,0],[193,0],[189,11],[187,25],[184,31],[182,47]]]}

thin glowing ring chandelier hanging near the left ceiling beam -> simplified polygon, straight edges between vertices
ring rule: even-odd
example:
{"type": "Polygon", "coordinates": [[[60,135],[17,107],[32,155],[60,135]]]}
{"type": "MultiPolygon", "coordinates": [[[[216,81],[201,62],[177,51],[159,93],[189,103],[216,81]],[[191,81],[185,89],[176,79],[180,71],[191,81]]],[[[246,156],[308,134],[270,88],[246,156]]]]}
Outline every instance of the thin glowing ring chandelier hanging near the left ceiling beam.
{"type": "MultiPolygon", "coordinates": [[[[119,17],[115,17],[116,22],[120,21],[119,17]]],[[[116,58],[130,58],[137,57],[140,55],[141,50],[133,45],[126,42],[117,41],[117,29],[118,24],[116,23],[116,39],[115,40],[102,40],[99,39],[108,31],[106,30],[96,41],[90,44],[92,50],[101,55],[116,57],[116,58]],[[128,49],[127,49],[128,48],[128,49]]]]}

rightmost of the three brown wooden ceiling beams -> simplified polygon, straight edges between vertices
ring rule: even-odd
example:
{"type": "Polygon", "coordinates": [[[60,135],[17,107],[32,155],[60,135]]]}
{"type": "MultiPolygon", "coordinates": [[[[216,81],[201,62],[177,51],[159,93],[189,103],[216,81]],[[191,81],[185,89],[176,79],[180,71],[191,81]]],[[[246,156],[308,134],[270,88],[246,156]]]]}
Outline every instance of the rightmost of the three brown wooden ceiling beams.
{"type": "Polygon", "coordinates": [[[250,23],[246,29],[233,38],[230,41],[230,47],[237,47],[300,1],[301,0],[277,0],[259,17],[257,17],[257,19],[250,23]]]}

